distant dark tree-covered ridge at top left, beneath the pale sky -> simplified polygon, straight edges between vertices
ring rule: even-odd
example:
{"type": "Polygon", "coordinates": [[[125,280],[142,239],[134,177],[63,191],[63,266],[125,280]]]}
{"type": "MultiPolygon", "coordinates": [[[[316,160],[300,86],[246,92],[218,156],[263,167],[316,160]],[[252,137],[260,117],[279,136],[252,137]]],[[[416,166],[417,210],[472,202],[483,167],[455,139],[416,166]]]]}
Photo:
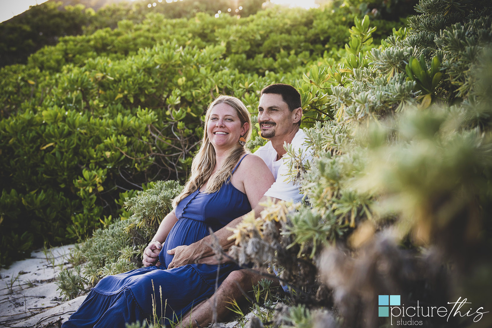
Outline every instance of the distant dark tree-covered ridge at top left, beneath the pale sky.
{"type": "MultiPolygon", "coordinates": [[[[101,3],[101,1],[97,2],[101,3]]],[[[62,8],[61,1],[47,1],[31,6],[28,11],[0,23],[0,67],[26,63],[31,54],[43,46],[57,44],[61,37],[92,34],[96,30],[105,28],[115,29],[124,24],[120,23],[123,20],[130,24],[129,26],[139,24],[149,13],[159,13],[166,18],[191,18],[198,12],[214,15],[221,10],[225,13],[227,8],[231,7],[229,1],[225,0],[164,2],[157,3],[157,6],[151,8],[148,7],[149,3],[152,4],[154,1],[112,3],[102,8],[95,8],[97,11],[92,8],[85,9],[81,3],[62,8]]],[[[240,14],[243,17],[254,14],[261,9],[262,3],[261,0],[241,1],[243,9],[240,14]]],[[[234,11],[232,13],[235,14],[234,11]]],[[[147,46],[152,45],[149,39],[147,46]]]]}

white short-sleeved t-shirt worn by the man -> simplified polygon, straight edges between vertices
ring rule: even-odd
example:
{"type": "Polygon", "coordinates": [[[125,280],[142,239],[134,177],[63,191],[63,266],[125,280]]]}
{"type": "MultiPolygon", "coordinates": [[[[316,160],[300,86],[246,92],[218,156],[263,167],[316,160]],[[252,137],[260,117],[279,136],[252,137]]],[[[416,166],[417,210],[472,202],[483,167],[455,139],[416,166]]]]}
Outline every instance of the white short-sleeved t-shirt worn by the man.
{"type": "MultiPolygon", "coordinates": [[[[304,149],[306,146],[302,146],[306,139],[306,134],[302,129],[299,129],[290,143],[294,149],[304,149]]],[[[293,201],[294,203],[300,202],[303,195],[299,193],[299,184],[294,184],[292,181],[284,181],[289,172],[288,164],[286,160],[282,157],[277,159],[277,150],[272,146],[272,142],[269,141],[265,146],[258,148],[254,152],[263,159],[267,164],[270,171],[274,175],[275,182],[272,184],[270,189],[267,190],[265,196],[275,197],[284,201],[293,201]]],[[[308,153],[305,160],[310,160],[311,154],[308,153]]]]}

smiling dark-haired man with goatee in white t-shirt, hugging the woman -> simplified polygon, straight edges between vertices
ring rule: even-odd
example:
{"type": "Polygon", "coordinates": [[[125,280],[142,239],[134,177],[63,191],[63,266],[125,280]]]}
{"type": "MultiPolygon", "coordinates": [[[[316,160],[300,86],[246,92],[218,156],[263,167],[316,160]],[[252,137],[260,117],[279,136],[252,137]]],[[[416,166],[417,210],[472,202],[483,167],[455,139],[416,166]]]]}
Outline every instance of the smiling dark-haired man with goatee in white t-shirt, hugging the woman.
{"type": "MultiPolygon", "coordinates": [[[[286,150],[284,143],[291,144],[294,149],[304,148],[303,143],[306,139],[304,131],[299,127],[303,110],[301,108],[301,95],[292,86],[286,84],[273,84],[265,87],[260,93],[258,105],[258,123],[260,125],[261,136],[270,141],[260,147],[255,154],[261,157],[275,177],[275,182],[265,193],[261,202],[265,202],[267,197],[275,201],[294,201],[300,202],[303,195],[299,193],[299,185],[285,180],[288,172],[288,163],[284,160],[286,150]]],[[[306,160],[309,160],[307,156],[306,160]]],[[[259,215],[259,213],[255,213],[259,215]]],[[[226,227],[215,232],[224,249],[228,249],[234,240],[227,240],[231,236],[231,231],[227,227],[235,227],[242,221],[238,217],[231,221],[226,227]]],[[[209,246],[213,239],[207,236],[188,246],[178,246],[168,251],[174,258],[168,268],[177,268],[191,263],[215,264],[215,253],[209,246]]],[[[144,254],[144,260],[148,263],[155,263],[160,249],[154,253],[144,254]]],[[[224,280],[215,292],[214,296],[193,307],[193,310],[182,318],[181,327],[206,327],[213,320],[213,309],[216,302],[216,313],[218,319],[224,318],[228,314],[226,302],[231,299],[242,298],[243,291],[251,291],[252,286],[256,285],[262,276],[251,273],[248,270],[233,271],[224,280]]],[[[278,283],[278,282],[277,282],[278,283]]]]}

